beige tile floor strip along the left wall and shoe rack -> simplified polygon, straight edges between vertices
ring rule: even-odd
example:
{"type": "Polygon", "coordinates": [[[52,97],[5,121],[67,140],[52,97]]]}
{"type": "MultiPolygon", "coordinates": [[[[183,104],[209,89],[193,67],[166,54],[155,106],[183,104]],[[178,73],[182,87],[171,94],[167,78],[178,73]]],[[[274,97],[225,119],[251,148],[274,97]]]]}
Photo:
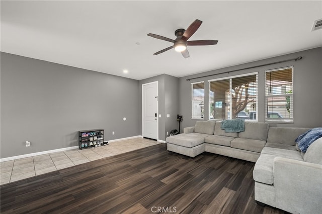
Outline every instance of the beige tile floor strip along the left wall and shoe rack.
{"type": "Polygon", "coordinates": [[[144,138],[133,138],[111,142],[109,145],[92,149],[73,149],[1,162],[0,184],[14,182],[156,144],[159,144],[159,142],[144,138]]]}

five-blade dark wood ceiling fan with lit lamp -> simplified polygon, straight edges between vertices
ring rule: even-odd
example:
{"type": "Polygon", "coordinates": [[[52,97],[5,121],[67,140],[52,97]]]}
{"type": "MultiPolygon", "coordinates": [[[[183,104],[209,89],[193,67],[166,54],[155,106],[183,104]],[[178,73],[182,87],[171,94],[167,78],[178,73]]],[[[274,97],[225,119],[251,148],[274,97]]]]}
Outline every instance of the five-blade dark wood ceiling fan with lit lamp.
{"type": "Polygon", "coordinates": [[[200,27],[202,21],[196,19],[193,23],[191,23],[191,25],[187,28],[187,30],[185,29],[178,29],[175,31],[175,35],[176,35],[176,39],[169,39],[167,37],[164,36],[159,36],[156,34],[147,34],[150,37],[156,38],[156,39],[160,39],[160,40],[165,40],[168,42],[173,42],[173,45],[165,48],[163,50],[160,50],[156,53],[154,53],[154,55],[163,53],[165,51],[168,51],[172,48],[175,48],[176,51],[181,52],[183,57],[188,58],[189,57],[189,52],[187,49],[187,45],[216,45],[218,43],[218,40],[194,40],[194,41],[187,41],[200,27]]]}

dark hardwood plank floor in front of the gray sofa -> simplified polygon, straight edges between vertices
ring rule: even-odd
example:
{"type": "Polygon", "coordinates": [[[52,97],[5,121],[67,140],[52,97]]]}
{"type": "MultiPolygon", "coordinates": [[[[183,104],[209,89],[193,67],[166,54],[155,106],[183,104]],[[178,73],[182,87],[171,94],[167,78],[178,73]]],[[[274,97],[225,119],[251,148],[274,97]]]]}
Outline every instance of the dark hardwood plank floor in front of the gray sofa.
{"type": "Polygon", "coordinates": [[[1,213],[283,213],[254,200],[254,163],[143,148],[1,186],[1,213]]]}

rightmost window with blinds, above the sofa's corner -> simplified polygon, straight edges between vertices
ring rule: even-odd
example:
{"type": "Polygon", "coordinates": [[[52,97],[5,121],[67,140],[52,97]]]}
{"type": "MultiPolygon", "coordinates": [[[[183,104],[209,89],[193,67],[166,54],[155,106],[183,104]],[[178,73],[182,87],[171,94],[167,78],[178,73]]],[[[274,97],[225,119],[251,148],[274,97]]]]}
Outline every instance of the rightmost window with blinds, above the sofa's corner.
{"type": "Polygon", "coordinates": [[[265,121],[293,123],[293,67],[267,70],[265,121]]]}

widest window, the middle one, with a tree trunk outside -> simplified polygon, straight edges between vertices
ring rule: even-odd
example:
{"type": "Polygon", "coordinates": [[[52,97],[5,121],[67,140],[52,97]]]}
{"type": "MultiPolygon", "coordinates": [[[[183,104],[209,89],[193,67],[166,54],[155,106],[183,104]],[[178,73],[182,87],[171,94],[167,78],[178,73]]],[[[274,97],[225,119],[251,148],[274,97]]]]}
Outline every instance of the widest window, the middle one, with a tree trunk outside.
{"type": "Polygon", "coordinates": [[[209,119],[256,120],[257,88],[257,73],[209,80],[209,119]]]}

